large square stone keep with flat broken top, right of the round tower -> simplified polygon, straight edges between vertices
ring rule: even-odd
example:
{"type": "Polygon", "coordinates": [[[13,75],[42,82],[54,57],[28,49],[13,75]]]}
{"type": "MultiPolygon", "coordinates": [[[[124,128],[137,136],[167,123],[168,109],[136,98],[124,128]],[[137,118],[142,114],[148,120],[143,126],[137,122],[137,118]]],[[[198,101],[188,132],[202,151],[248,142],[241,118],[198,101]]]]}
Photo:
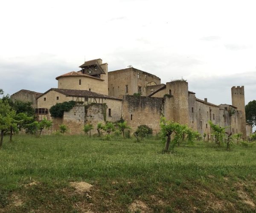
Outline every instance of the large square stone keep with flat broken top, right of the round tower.
{"type": "Polygon", "coordinates": [[[141,94],[147,95],[146,86],[149,82],[161,83],[161,79],[155,75],[143,72],[133,67],[116,70],[108,73],[108,95],[122,98],[123,95],[133,95],[141,87],[141,94]],[[126,85],[128,92],[126,92],[126,85]]]}

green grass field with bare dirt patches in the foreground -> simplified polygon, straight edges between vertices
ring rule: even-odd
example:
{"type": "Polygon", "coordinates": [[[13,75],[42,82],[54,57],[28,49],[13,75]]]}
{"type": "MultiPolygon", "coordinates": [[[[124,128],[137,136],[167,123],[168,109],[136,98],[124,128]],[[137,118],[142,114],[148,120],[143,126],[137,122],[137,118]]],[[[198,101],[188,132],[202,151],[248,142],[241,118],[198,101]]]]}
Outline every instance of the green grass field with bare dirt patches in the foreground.
{"type": "Polygon", "coordinates": [[[16,135],[0,150],[0,212],[255,212],[256,147],[16,135]],[[78,192],[70,182],[87,182],[78,192]]]}

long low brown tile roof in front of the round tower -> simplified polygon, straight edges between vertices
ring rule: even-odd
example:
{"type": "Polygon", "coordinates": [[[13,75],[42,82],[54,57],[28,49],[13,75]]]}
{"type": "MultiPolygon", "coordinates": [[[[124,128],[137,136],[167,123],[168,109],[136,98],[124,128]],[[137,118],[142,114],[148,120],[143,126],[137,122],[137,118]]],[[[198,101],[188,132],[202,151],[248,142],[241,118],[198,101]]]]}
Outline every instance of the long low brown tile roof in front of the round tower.
{"type": "Polygon", "coordinates": [[[49,91],[52,91],[52,90],[59,92],[63,95],[72,96],[72,97],[108,98],[108,99],[122,100],[120,98],[112,97],[109,95],[102,95],[102,94],[99,94],[96,92],[91,92],[88,90],[58,89],[58,88],[51,88],[51,89],[47,90],[46,92],[44,92],[44,94],[40,95],[38,98],[40,98],[41,96],[47,94],[49,91]]]}

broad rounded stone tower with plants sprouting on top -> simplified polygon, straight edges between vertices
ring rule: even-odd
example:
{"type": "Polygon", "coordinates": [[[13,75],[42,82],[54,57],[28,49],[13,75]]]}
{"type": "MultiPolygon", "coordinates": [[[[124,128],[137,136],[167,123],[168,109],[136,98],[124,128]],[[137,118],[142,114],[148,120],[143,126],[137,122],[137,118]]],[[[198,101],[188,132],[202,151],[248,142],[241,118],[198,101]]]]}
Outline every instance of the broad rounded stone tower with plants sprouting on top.
{"type": "Polygon", "coordinates": [[[166,83],[165,116],[180,124],[189,124],[188,83],[172,81],[166,83]],[[169,99],[169,100],[167,100],[169,99]]]}

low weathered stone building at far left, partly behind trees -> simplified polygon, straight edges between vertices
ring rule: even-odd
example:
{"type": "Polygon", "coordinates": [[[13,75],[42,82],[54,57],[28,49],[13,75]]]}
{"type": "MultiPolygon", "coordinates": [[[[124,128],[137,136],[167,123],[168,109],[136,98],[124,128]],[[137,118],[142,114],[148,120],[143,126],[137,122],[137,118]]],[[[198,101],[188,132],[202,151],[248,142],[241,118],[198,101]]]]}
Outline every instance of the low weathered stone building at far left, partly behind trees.
{"type": "Polygon", "coordinates": [[[42,93],[39,92],[33,92],[26,89],[21,89],[18,92],[15,92],[10,96],[10,98],[15,101],[23,101],[23,102],[31,102],[32,107],[36,108],[36,98],[38,98],[39,95],[42,93]]]}

